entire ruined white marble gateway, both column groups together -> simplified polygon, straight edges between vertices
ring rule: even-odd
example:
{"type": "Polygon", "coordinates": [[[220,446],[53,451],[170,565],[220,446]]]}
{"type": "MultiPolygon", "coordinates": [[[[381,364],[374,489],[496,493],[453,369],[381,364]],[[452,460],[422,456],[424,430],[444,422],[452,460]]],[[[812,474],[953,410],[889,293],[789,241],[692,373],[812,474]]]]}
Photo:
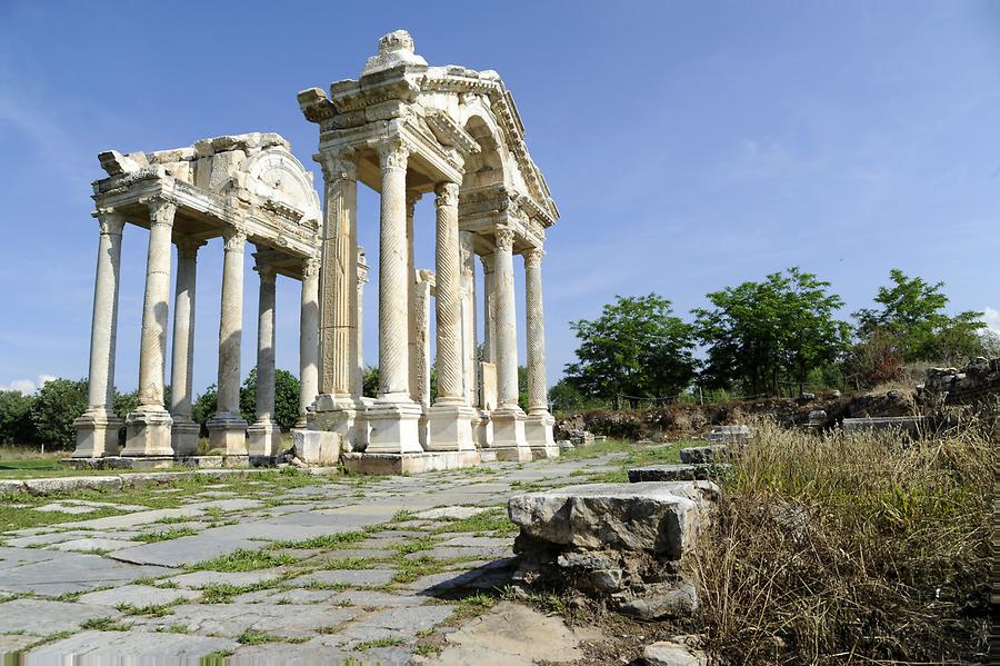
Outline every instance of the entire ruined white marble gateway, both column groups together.
{"type": "Polygon", "coordinates": [[[302,282],[300,419],[293,431],[300,458],[331,463],[342,456],[350,469],[384,474],[558,455],[546,392],[541,262],[546,230],[559,212],[500,77],[428,67],[409,33],[397,31],[379,40],[378,54],[357,80],[334,82],[329,95],[303,90],[298,99],[306,119],[319,127],[313,159],[323,173],[322,210],[312,175],[274,133],[100,156],[108,178],[94,183],[93,197],[100,245],[90,407],[77,421],[73,458],[229,465],[273,459],[280,446],[273,419],[277,275],[302,282]],[[380,196],[376,398],[362,395],[368,267],[357,240],[359,182],[380,196]],[[436,208],[433,270],[413,260],[413,210],[424,196],[433,197],[436,208]],[[149,252],[139,406],[122,424],[111,396],[127,222],[149,229],[149,252]],[[224,238],[219,406],[208,423],[217,455],[199,457],[199,426],[191,418],[196,269],[199,247],[219,236],[224,238]],[[253,424],[239,410],[248,241],[256,248],[260,281],[253,424]],[[523,258],[520,280],[514,255],[523,258]],[[527,412],[518,406],[519,281],[527,309],[527,412]]]}

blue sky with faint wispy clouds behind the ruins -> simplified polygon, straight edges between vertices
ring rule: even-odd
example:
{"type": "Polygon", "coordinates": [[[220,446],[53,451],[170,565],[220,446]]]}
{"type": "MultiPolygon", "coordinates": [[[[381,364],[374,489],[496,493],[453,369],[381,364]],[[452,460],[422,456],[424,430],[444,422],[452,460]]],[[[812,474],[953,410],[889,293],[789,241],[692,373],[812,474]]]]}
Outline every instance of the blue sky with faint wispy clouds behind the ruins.
{"type": "MultiPolygon", "coordinates": [[[[0,387],[87,374],[98,152],[277,131],[313,168],[296,92],[356,78],[398,28],[431,64],[496,69],[513,92],[562,211],[543,262],[551,380],[573,357],[568,322],[617,294],[656,291],[686,314],[789,266],[832,281],[844,316],[898,267],[946,281],[956,311],[990,308],[1000,329],[998,2],[0,0],[0,387]]],[[[430,268],[432,202],[417,216],[430,268]]],[[[372,257],[370,192],[359,220],[372,257]]],[[[126,230],[123,390],[146,242],[126,230]]],[[[196,392],[216,378],[221,255],[218,240],[200,254],[196,392]]],[[[249,264],[246,288],[244,374],[249,264]]],[[[277,335],[294,370],[298,286],[284,279],[277,335]]]]}

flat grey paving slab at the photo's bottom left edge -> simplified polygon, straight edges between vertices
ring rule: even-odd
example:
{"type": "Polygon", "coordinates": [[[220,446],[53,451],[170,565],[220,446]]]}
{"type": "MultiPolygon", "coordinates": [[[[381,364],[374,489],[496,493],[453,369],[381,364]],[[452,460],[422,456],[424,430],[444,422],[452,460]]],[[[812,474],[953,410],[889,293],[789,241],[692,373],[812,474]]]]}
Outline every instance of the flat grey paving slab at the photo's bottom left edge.
{"type": "Polygon", "coordinates": [[[83,632],[31,650],[33,664],[197,664],[207,655],[229,652],[239,643],[229,638],[150,632],[83,632]],[[128,657],[123,660],[122,657],[128,657]]]}

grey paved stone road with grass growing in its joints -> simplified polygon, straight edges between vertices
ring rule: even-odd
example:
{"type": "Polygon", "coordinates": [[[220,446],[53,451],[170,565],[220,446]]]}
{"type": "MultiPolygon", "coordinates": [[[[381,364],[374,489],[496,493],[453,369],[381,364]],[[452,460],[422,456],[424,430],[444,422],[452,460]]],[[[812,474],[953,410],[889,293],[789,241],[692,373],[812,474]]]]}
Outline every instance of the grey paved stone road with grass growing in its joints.
{"type": "Polygon", "coordinates": [[[0,534],[0,654],[433,662],[428,644],[476,615],[470,595],[509,579],[507,498],[614,469],[613,457],[26,501],[63,521],[0,534]]]}

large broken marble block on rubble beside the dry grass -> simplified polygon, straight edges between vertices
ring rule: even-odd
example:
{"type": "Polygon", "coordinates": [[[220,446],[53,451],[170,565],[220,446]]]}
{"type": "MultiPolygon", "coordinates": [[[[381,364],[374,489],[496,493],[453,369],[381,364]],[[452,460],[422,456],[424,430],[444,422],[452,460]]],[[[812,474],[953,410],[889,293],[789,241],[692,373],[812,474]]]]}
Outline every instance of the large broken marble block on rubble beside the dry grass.
{"type": "Polygon", "coordinates": [[[690,615],[687,557],[709,518],[710,481],[591,484],[508,500],[526,585],[570,587],[643,619],[690,615]]]}

